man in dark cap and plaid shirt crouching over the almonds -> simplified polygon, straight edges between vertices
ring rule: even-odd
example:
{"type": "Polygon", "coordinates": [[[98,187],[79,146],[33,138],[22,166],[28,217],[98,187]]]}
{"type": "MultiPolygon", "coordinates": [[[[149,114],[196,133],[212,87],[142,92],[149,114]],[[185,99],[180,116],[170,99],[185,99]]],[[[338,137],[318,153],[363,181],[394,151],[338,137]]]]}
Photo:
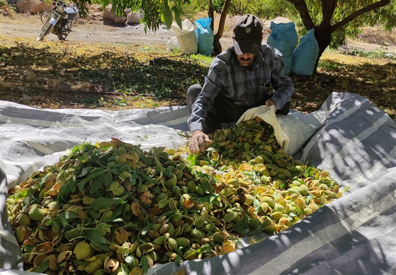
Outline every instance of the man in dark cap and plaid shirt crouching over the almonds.
{"type": "Polygon", "coordinates": [[[220,123],[236,122],[250,108],[274,106],[277,114],[289,113],[293,81],[285,74],[282,54],[261,43],[262,29],[260,19],[253,15],[239,18],[234,45],[213,60],[203,85],[192,85],[187,91],[191,153],[211,143],[206,134],[220,129],[220,123]],[[270,85],[273,95],[268,94],[270,85]]]}

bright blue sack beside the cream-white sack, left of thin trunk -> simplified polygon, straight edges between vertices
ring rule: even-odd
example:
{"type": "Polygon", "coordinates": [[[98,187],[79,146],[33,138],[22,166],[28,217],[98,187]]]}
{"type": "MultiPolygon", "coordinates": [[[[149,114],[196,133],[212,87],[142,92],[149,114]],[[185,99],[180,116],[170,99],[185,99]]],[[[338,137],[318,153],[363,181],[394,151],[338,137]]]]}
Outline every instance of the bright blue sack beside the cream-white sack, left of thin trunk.
{"type": "Polygon", "coordinates": [[[200,18],[195,21],[197,26],[196,35],[198,41],[198,53],[211,55],[213,52],[213,31],[210,29],[212,18],[200,18]]]}

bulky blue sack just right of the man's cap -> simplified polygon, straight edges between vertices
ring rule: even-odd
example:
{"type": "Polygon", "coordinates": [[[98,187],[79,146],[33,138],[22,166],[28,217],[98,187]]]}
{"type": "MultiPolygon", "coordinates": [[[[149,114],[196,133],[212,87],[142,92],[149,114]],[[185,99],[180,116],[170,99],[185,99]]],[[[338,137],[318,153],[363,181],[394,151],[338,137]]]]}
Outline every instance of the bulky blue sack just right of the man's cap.
{"type": "Polygon", "coordinates": [[[296,25],[293,22],[277,24],[272,21],[269,28],[271,29],[271,33],[267,38],[267,44],[282,53],[283,63],[285,63],[285,73],[286,75],[290,75],[292,71],[293,51],[298,42],[296,25]]]}

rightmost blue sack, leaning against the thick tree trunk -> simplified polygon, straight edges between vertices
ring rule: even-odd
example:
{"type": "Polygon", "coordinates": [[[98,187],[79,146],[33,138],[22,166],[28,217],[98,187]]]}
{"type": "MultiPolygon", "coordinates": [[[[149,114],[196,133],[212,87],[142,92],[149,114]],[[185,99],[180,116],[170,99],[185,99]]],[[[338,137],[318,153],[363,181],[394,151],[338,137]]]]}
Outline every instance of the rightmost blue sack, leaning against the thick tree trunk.
{"type": "Polygon", "coordinates": [[[296,76],[312,76],[316,59],[319,54],[318,41],[315,39],[315,30],[310,29],[300,39],[299,45],[293,53],[292,74],[296,76]]]}

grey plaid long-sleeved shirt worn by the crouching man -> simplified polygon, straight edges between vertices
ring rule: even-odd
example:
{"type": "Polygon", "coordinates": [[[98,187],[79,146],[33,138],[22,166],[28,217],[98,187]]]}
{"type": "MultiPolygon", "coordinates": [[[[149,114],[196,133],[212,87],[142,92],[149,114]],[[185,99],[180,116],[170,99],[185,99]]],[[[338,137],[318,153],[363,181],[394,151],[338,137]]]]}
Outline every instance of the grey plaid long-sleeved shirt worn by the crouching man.
{"type": "Polygon", "coordinates": [[[218,94],[237,105],[251,106],[267,96],[270,85],[275,89],[271,99],[275,101],[277,109],[281,109],[291,100],[294,85],[285,74],[282,54],[277,49],[262,43],[260,53],[254,58],[250,70],[247,70],[240,66],[234,46],[229,47],[214,58],[209,67],[202,91],[187,121],[190,130],[202,130],[202,123],[218,94]]]}

